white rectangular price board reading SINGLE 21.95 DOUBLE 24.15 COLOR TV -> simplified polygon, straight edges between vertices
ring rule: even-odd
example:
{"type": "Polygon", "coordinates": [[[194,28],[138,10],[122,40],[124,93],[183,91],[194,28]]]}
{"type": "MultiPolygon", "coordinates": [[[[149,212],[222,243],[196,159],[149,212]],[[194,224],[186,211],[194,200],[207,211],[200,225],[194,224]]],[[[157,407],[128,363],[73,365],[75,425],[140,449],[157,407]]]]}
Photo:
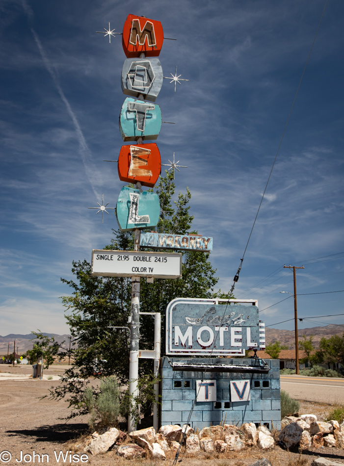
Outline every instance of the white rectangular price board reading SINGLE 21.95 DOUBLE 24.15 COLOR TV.
{"type": "Polygon", "coordinates": [[[182,255],[93,249],[91,275],[102,277],[180,278],[182,255]]]}

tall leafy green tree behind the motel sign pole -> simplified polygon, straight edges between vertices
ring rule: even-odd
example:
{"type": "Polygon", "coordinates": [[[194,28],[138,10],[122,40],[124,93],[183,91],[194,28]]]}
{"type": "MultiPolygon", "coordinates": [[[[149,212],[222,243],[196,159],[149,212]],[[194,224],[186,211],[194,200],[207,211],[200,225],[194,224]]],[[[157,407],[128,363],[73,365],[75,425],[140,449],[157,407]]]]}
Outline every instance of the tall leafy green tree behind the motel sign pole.
{"type": "MultiPolygon", "coordinates": [[[[155,188],[159,195],[161,214],[157,231],[159,233],[197,233],[191,230],[193,216],[189,213],[191,193],[175,193],[173,176],[159,179],[155,188]]],[[[113,231],[114,237],[105,249],[133,250],[133,233],[113,231]]],[[[166,250],[168,252],[170,250],[166,250]]],[[[129,332],[127,329],[110,329],[110,326],[128,326],[131,308],[131,279],[121,277],[95,277],[90,275],[90,263],[86,260],[73,261],[72,272],[75,280],[61,279],[69,285],[71,296],[62,297],[66,307],[66,319],[77,346],[71,350],[73,366],[62,377],[62,384],[52,392],[55,398],[69,399],[69,406],[75,409],[71,416],[85,414],[83,392],[89,378],[115,375],[126,384],[129,378],[129,332]]],[[[209,261],[209,253],[182,252],[182,278],[176,280],[155,280],[146,283],[141,280],[140,311],[160,312],[162,335],[164,335],[164,312],[166,305],[174,298],[211,298],[218,278],[209,261]]],[[[224,296],[222,293],[221,296],[224,296]]],[[[228,297],[228,295],[226,295],[228,297]]],[[[140,348],[153,349],[154,321],[151,316],[142,316],[140,322],[140,348]]],[[[163,347],[163,341],[162,341],[163,347]]],[[[153,361],[141,359],[139,378],[152,379],[153,361]]],[[[93,388],[95,396],[97,389],[93,388]]],[[[89,393],[88,393],[89,396],[89,393]]],[[[142,400],[141,400],[142,401],[142,400]]],[[[143,403],[143,401],[142,401],[143,403]]],[[[149,405],[149,403],[148,403],[149,405]]],[[[147,408],[149,410],[149,406],[147,408]]],[[[150,413],[149,413],[150,414],[150,413]]]]}

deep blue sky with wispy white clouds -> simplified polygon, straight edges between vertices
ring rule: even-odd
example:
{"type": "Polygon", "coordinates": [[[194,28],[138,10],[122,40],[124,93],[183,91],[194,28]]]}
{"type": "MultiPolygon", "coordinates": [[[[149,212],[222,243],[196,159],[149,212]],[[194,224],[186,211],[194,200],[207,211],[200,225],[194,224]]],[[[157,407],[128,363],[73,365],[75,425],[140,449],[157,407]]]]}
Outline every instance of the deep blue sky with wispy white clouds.
{"type": "MultiPolygon", "coordinates": [[[[242,257],[325,1],[3,0],[0,4],[0,335],[68,332],[59,297],[73,259],[91,258],[117,228],[123,182],[118,116],[125,96],[120,36],[128,14],[161,21],[157,104],[163,163],[181,160],[194,227],[213,236],[228,290],[242,257]]],[[[344,4],[329,0],[235,294],[258,299],[266,325],[293,317],[297,292],[344,289],[344,4]],[[341,254],[340,254],[341,253],[341,254]],[[331,256],[330,256],[331,255],[331,256]],[[326,257],[325,257],[326,256],[326,257]],[[328,257],[327,257],[328,256],[328,257]],[[317,259],[322,258],[322,259],[317,259]],[[310,260],[312,259],[312,260],[310,260]],[[266,279],[266,280],[265,280],[266,279]],[[270,307],[272,306],[272,307],[270,307]],[[268,309],[265,309],[268,308],[268,309]],[[264,311],[263,311],[264,310],[264,311]]],[[[344,313],[344,293],[299,296],[301,317],[344,313]]],[[[344,316],[319,323],[344,323],[344,316]]],[[[300,323],[300,329],[315,322],[300,323]]],[[[324,324],[320,324],[324,325],[324,324]]],[[[293,323],[278,328],[292,329],[293,323]]]]}

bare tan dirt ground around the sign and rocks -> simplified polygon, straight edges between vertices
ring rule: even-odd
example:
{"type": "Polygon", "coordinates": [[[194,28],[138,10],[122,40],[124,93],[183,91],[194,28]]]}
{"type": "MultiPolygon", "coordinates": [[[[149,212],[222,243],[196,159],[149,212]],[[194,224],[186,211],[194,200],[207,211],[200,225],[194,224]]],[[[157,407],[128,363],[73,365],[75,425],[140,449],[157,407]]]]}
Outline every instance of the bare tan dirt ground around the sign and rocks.
{"type": "MultiPolygon", "coordinates": [[[[63,366],[52,366],[45,372],[45,377],[52,377],[63,372],[63,366]]],[[[1,464],[18,465],[40,463],[40,465],[55,465],[64,463],[60,456],[65,456],[70,445],[80,436],[87,433],[87,418],[77,417],[67,423],[59,418],[69,414],[68,405],[64,401],[53,401],[39,397],[48,394],[49,388],[58,385],[58,380],[29,379],[31,366],[9,367],[0,366],[0,466],[1,464]],[[8,380],[7,375],[16,374],[8,380]],[[10,452],[11,459],[6,453],[10,452]],[[22,453],[21,453],[22,452],[22,453]],[[54,453],[55,452],[55,453],[54,453]],[[33,455],[36,455],[33,461],[33,455]],[[26,456],[24,460],[24,455],[26,456]],[[38,455],[38,456],[37,456],[38,455]],[[49,456],[49,462],[45,456],[49,456]],[[22,461],[21,461],[22,460],[22,461]],[[40,460],[40,461],[38,461],[40,460]]],[[[331,409],[330,405],[301,402],[300,414],[316,414],[323,419],[331,409]]],[[[72,452],[73,454],[73,452],[72,452]]],[[[299,457],[298,451],[288,452],[276,446],[271,451],[261,451],[258,448],[248,448],[240,452],[226,454],[200,454],[197,458],[182,453],[179,462],[185,466],[246,466],[260,458],[268,458],[273,466],[306,466],[318,457],[338,461],[344,465],[344,450],[337,448],[322,448],[305,451],[299,457]]],[[[128,461],[119,458],[115,451],[86,459],[83,462],[73,462],[73,457],[67,455],[65,464],[87,464],[97,466],[161,466],[173,462],[173,454],[167,454],[166,462],[150,459],[128,461]],[[70,461],[71,460],[71,461],[70,461]]]]}

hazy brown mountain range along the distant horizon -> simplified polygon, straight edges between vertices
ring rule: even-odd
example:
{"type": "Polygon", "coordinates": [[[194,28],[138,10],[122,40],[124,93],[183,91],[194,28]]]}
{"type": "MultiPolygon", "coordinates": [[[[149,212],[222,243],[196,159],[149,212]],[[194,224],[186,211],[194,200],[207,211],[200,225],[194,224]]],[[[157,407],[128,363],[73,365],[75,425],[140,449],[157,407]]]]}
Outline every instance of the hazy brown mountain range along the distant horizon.
{"type": "MultiPolygon", "coordinates": [[[[332,335],[340,335],[342,336],[344,333],[344,325],[326,325],[325,327],[311,327],[309,329],[299,329],[298,335],[299,340],[302,338],[302,335],[306,335],[309,337],[310,335],[314,335],[313,341],[317,344],[322,337],[331,337],[332,335]]],[[[64,347],[67,349],[69,347],[69,337],[70,335],[56,335],[56,334],[47,334],[43,333],[48,337],[54,336],[55,340],[61,343],[65,340],[64,347]]],[[[27,335],[19,335],[19,334],[9,334],[5,337],[1,337],[0,335],[0,356],[7,355],[7,348],[9,343],[9,352],[13,353],[13,342],[16,340],[16,353],[21,354],[25,353],[27,350],[31,349],[33,346],[33,338],[34,335],[27,334],[27,335]]],[[[277,330],[277,329],[270,329],[266,327],[265,329],[265,337],[266,343],[274,342],[276,340],[281,341],[282,344],[289,346],[289,349],[295,348],[295,334],[293,330],[277,330]]],[[[73,346],[73,344],[72,344],[73,346]]]]}

